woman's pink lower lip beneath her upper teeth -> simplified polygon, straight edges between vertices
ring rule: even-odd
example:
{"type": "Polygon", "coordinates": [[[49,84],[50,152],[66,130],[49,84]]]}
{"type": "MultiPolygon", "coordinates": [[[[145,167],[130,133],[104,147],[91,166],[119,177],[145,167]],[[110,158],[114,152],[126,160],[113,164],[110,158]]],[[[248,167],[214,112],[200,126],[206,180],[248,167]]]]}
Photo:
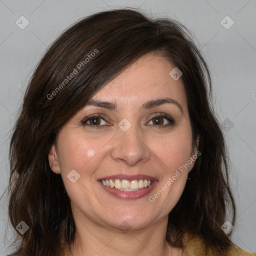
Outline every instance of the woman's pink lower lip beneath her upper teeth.
{"type": "Polygon", "coordinates": [[[116,188],[112,188],[110,186],[103,185],[100,180],[98,180],[98,182],[102,186],[102,188],[105,189],[105,191],[107,191],[109,194],[111,194],[111,195],[113,195],[117,198],[120,198],[120,199],[139,199],[139,198],[142,198],[142,197],[146,196],[147,194],[149,194],[157,183],[157,181],[154,181],[150,186],[141,188],[141,189],[136,190],[136,191],[121,191],[121,190],[118,190],[116,188]]]}

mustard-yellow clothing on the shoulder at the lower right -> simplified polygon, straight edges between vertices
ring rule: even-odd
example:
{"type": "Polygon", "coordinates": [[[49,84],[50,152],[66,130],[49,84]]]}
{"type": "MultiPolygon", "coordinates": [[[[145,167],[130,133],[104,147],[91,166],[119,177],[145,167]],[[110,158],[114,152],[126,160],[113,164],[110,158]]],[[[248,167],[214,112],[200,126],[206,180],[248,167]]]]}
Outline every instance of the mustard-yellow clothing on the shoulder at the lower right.
{"type": "MultiPolygon", "coordinates": [[[[182,239],[184,250],[182,256],[216,256],[214,249],[206,249],[205,244],[197,235],[185,234],[182,239]]],[[[247,252],[237,246],[230,246],[226,256],[256,256],[256,253],[247,252]]]]}

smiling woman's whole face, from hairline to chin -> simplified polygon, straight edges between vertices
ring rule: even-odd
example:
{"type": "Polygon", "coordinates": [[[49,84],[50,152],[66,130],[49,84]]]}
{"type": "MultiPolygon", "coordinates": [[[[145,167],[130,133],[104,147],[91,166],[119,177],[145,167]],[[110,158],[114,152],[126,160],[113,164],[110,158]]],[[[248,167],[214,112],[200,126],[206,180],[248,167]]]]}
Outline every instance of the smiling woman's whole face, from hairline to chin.
{"type": "Polygon", "coordinates": [[[76,223],[138,229],[177,203],[196,148],[174,67],[140,57],[61,128],[49,164],[61,174],[76,223]]]}

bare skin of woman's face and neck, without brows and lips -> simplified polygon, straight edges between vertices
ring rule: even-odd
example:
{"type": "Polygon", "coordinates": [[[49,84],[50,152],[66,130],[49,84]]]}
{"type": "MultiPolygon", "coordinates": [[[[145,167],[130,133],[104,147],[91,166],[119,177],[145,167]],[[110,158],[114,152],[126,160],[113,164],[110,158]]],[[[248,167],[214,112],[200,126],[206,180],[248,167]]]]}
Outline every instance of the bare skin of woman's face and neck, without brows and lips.
{"type": "Polygon", "coordinates": [[[154,202],[148,199],[197,151],[192,148],[182,80],[175,81],[169,75],[173,68],[156,54],[140,57],[92,96],[115,102],[116,111],[85,105],[59,131],[57,145],[52,145],[48,159],[52,171],[61,175],[71,201],[76,226],[70,244],[72,256],[182,255],[181,248],[167,243],[166,226],[168,213],[180,198],[194,161],[154,202]],[[148,100],[166,97],[175,99],[182,111],[170,103],[140,109],[148,100]],[[164,126],[169,123],[164,117],[158,119],[163,121],[159,124],[152,118],[155,113],[165,113],[175,123],[164,126]],[[97,117],[98,128],[89,126],[89,121],[82,125],[81,120],[91,114],[101,114],[106,121],[97,117]],[[123,118],[131,123],[127,131],[117,125],[123,118]],[[74,183],[67,178],[72,169],[80,174],[74,183]],[[121,173],[149,175],[158,183],[142,198],[116,198],[97,180],[121,173]],[[123,223],[128,226],[125,232],[120,230],[123,223]]]}

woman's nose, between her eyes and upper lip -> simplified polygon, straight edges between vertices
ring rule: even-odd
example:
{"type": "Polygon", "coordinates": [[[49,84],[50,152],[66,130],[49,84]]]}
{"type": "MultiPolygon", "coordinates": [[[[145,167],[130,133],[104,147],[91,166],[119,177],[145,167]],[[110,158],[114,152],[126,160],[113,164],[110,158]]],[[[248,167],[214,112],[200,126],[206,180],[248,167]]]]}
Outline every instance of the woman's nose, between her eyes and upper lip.
{"type": "Polygon", "coordinates": [[[150,149],[146,145],[141,133],[133,125],[126,131],[118,128],[114,137],[111,157],[116,161],[124,161],[132,166],[137,162],[145,162],[150,158],[150,149]]]}

